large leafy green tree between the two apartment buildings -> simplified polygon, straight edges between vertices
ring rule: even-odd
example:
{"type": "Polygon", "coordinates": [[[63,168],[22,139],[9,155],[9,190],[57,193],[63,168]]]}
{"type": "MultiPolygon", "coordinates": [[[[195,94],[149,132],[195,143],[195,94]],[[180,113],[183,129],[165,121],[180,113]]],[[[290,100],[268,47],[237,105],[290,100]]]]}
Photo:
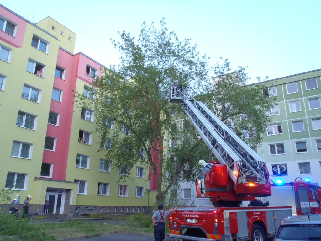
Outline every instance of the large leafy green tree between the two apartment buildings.
{"type": "MultiPolygon", "coordinates": [[[[230,123],[236,123],[233,116],[240,114],[236,108],[237,102],[244,96],[241,96],[238,88],[233,90],[238,94],[233,102],[230,100],[228,103],[221,93],[218,96],[218,90],[213,89],[206,56],[200,56],[196,46],[190,45],[189,39],[179,41],[176,34],[165,27],[164,20],[160,22],[160,30],[156,29],[154,23],[149,27],[143,23],[137,41],[125,31],[119,35],[121,41],[112,42],[121,53],[121,64],[105,69],[104,75],[92,83],[96,88],[94,103],[82,94],[76,94],[77,100],[82,106],[94,105],[92,108],[95,110],[96,130],[101,136],[100,145],[111,145],[106,159],[113,160],[113,168],[122,167],[126,173],[137,163],[149,166],[155,174],[157,195],[162,199],[175,180],[190,181],[197,174],[199,159],[214,158],[187,116],[181,112],[180,105],[169,103],[170,86],[174,82],[184,81],[190,87],[192,96],[197,95],[207,103],[216,103],[216,98],[220,97],[221,108],[213,105],[214,113],[230,123]],[[228,105],[230,108],[227,108],[228,105]],[[172,128],[175,123],[172,115],[175,112],[178,112],[180,120],[185,119],[185,128],[172,128]],[[180,145],[169,148],[164,155],[169,129],[170,138],[179,139],[180,145]],[[173,156],[178,156],[176,169],[173,156]]],[[[224,64],[224,69],[218,65],[216,70],[221,68],[221,71],[228,71],[228,62],[224,64]]],[[[244,68],[241,70],[244,72],[244,68]]],[[[243,72],[239,71],[238,75],[243,72]]],[[[222,73],[220,75],[214,86],[221,89],[225,87],[225,91],[229,87],[237,87],[232,79],[225,78],[222,73]]],[[[244,85],[241,83],[245,79],[246,75],[238,77],[238,87],[244,85]]],[[[229,93],[228,96],[233,94],[229,93]]],[[[255,96],[259,98],[258,94],[252,97],[255,96]]],[[[254,109],[258,112],[258,108],[254,109]]],[[[258,113],[260,117],[262,113],[258,113]]],[[[257,124],[264,126],[265,121],[265,118],[261,118],[257,124]]]]}

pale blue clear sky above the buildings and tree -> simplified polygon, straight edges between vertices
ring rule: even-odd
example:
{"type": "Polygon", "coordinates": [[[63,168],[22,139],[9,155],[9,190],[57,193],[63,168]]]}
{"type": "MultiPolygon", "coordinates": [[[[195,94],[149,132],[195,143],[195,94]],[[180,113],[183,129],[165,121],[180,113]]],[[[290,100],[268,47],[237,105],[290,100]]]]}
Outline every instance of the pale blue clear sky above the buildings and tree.
{"type": "Polygon", "coordinates": [[[227,58],[232,70],[275,79],[321,69],[320,0],[1,0],[30,22],[50,16],[77,34],[75,52],[100,64],[119,64],[110,39],[117,31],[136,39],[145,21],[164,17],[179,40],[190,38],[214,66],[227,58]]]}

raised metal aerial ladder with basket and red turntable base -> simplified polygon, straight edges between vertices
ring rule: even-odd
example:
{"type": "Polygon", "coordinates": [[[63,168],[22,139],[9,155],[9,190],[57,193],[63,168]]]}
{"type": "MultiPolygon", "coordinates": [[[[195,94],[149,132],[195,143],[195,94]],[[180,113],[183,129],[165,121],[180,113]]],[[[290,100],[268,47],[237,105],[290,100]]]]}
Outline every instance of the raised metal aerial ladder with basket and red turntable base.
{"type": "Polygon", "coordinates": [[[214,206],[239,206],[242,201],[271,196],[265,161],[231,131],[206,105],[189,95],[187,88],[172,86],[170,102],[182,103],[199,135],[218,159],[211,172],[195,180],[198,197],[209,197],[214,206]]]}

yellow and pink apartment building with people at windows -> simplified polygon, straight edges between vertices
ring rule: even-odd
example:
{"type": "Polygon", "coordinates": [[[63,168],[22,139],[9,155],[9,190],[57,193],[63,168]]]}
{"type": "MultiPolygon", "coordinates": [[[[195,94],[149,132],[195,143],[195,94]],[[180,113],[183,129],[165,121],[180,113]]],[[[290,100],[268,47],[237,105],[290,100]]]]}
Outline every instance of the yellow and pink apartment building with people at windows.
{"type": "Polygon", "coordinates": [[[75,40],[50,17],[32,23],[0,5],[0,187],[31,194],[32,213],[46,197],[54,214],[146,211],[148,169],[119,182],[123,166],[106,160],[94,110],[75,102],[75,92],[95,101],[91,82],[104,68],[74,54],[75,40]]]}

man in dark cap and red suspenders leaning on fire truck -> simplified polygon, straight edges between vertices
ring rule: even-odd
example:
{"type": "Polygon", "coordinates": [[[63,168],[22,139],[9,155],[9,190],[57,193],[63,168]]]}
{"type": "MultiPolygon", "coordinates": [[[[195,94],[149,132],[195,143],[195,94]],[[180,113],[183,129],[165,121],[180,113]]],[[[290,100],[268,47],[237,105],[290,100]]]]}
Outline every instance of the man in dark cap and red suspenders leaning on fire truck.
{"type": "Polygon", "coordinates": [[[152,216],[152,221],[154,225],[154,239],[155,241],[163,241],[165,238],[165,221],[166,217],[171,213],[176,211],[177,208],[173,208],[168,211],[163,210],[163,204],[158,205],[158,211],[155,211],[152,216]]]}

